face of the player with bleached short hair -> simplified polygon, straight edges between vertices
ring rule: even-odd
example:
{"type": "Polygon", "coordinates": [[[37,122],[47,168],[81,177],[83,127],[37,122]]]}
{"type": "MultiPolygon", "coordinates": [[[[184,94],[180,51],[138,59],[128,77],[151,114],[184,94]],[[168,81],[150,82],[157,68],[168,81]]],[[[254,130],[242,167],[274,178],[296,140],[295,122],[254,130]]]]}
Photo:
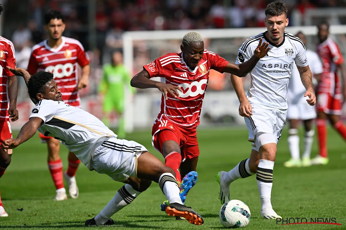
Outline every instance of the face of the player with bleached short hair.
{"type": "Polygon", "coordinates": [[[199,60],[203,57],[204,42],[194,42],[186,46],[181,45],[180,49],[183,52],[185,63],[190,69],[194,69],[198,66],[199,60]]]}

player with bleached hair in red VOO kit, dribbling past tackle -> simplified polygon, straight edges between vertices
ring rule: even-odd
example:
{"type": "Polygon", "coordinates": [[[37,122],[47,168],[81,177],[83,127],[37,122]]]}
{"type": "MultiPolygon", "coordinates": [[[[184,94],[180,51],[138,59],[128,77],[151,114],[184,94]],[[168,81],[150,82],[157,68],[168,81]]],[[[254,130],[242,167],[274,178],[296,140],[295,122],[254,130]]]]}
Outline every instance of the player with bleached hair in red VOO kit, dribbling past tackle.
{"type": "MultiPolygon", "coordinates": [[[[208,85],[209,70],[245,77],[270,48],[262,39],[254,56],[241,64],[226,61],[216,53],[204,49],[201,35],[190,31],[183,37],[181,53],[169,53],[143,67],[131,80],[131,86],[157,88],[162,92],[161,112],[152,130],[153,147],[162,153],[165,165],[176,173],[181,183],[181,198],[197,181],[199,148],[196,128],[208,85]],[[150,80],[161,77],[161,82],[150,80]],[[180,171],[179,171],[180,169],[180,171]]],[[[167,203],[161,208],[165,210],[167,203]]]]}

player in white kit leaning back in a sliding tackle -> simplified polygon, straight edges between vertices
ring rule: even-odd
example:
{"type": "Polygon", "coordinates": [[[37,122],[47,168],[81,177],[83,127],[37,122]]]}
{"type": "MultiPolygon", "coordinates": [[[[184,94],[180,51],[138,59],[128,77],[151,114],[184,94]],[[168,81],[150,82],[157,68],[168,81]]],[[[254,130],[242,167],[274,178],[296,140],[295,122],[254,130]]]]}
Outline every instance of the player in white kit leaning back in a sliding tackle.
{"type": "Polygon", "coordinates": [[[86,226],[114,224],[110,217],[149,188],[151,181],[159,183],[169,200],[170,205],[165,209],[169,216],[203,224],[203,218],[196,211],[183,205],[173,169],[141,144],[117,139],[117,135],[92,114],[65,103],[52,73],[37,72],[30,77],[24,69],[8,69],[16,76],[24,77],[29,96],[36,106],[17,138],[2,142],[4,151],[29,140],[38,130],[60,140],[89,170],[126,183],[96,217],[85,222],[86,226]]]}

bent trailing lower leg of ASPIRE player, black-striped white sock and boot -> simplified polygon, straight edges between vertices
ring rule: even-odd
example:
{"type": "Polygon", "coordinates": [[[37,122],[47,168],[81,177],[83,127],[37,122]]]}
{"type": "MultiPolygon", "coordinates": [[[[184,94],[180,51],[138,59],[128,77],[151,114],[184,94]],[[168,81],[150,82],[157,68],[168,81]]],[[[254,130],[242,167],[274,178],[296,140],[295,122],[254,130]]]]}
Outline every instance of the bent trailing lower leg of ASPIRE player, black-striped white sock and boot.
{"type": "Polygon", "coordinates": [[[246,178],[254,175],[257,171],[259,162],[260,154],[256,150],[252,149],[250,158],[240,161],[236,167],[228,172],[218,172],[216,175],[216,181],[220,184],[219,199],[222,204],[230,200],[230,184],[239,178],[246,178]]]}

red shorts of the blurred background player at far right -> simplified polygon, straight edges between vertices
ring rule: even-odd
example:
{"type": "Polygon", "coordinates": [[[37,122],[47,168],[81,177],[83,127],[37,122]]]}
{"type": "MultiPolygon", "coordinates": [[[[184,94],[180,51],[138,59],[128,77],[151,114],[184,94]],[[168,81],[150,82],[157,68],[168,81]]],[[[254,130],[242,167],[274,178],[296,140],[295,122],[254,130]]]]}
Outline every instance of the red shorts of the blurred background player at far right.
{"type": "Polygon", "coordinates": [[[326,114],[341,115],[341,98],[341,94],[332,96],[330,93],[318,93],[317,111],[325,112],[326,114]]]}

